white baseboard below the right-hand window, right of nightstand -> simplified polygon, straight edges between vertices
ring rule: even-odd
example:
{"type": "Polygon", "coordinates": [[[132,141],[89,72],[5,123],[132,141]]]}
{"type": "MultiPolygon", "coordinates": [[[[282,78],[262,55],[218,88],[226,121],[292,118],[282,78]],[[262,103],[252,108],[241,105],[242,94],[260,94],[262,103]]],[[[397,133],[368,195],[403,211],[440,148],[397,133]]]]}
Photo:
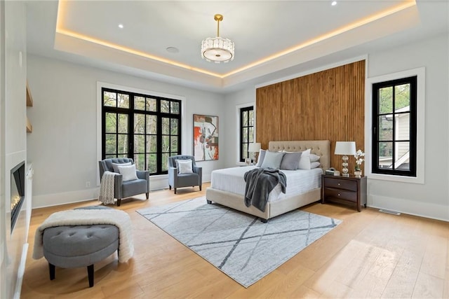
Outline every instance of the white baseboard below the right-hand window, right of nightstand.
{"type": "Polygon", "coordinates": [[[368,207],[376,209],[389,209],[403,214],[431,218],[441,221],[449,221],[448,206],[417,202],[403,198],[386,197],[380,195],[368,195],[368,207]]]}

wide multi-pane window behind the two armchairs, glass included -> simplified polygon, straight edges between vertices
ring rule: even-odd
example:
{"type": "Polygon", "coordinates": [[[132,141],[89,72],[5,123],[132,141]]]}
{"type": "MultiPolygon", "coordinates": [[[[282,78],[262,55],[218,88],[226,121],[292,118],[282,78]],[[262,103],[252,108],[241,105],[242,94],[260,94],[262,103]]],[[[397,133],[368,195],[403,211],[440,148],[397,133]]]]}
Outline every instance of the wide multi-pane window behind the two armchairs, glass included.
{"type": "Polygon", "coordinates": [[[166,174],[180,151],[180,100],[102,88],[102,159],[133,158],[137,169],[166,174]]]}

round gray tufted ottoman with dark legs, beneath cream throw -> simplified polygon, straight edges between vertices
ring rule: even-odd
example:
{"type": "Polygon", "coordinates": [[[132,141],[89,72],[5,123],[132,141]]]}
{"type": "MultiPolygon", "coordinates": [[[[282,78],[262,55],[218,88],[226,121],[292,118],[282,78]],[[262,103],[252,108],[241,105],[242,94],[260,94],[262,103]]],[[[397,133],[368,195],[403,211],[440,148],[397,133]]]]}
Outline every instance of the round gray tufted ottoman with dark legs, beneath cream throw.
{"type": "Polygon", "coordinates": [[[87,266],[91,287],[93,264],[118,249],[119,228],[115,225],[57,226],[43,231],[43,256],[48,260],[51,280],[55,279],[55,266],[87,266]]]}

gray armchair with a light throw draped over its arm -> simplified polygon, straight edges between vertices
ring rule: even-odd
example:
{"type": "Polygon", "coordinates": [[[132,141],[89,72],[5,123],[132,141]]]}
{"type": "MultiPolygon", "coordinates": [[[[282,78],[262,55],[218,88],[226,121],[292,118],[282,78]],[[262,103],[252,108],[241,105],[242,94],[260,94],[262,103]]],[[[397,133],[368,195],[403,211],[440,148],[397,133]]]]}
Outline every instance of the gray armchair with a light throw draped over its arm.
{"type": "MultiPolygon", "coordinates": [[[[131,158],[112,158],[98,161],[98,164],[100,165],[100,180],[106,171],[114,172],[112,163],[122,164],[128,162],[134,164],[134,161],[131,158]]],[[[148,199],[149,172],[137,170],[136,174],[138,179],[133,181],[123,181],[123,176],[121,174],[114,176],[114,198],[117,199],[117,207],[120,207],[121,199],[125,197],[145,193],[148,199]]]]}

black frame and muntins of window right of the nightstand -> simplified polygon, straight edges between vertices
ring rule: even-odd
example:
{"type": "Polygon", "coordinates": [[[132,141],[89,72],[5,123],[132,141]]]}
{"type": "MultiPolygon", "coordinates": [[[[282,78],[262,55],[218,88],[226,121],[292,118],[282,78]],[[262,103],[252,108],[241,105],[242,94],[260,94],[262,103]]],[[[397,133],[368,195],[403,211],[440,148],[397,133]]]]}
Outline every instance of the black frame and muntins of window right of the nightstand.
{"type": "Polygon", "coordinates": [[[371,151],[373,153],[372,156],[372,167],[371,172],[373,174],[389,174],[394,176],[410,176],[410,177],[416,177],[417,176],[417,76],[410,76],[406,78],[398,78],[395,80],[390,81],[384,81],[379,83],[373,83],[373,142],[372,142],[372,148],[371,151]],[[404,84],[410,84],[410,111],[407,112],[398,112],[396,107],[396,92],[395,92],[395,86],[396,85],[404,85],[404,84]],[[393,93],[392,93],[392,111],[389,113],[380,113],[379,108],[379,90],[382,88],[388,88],[392,87],[393,93]],[[410,113],[410,125],[409,125],[409,136],[410,139],[401,140],[396,139],[396,123],[392,122],[392,133],[393,136],[391,137],[391,140],[382,140],[380,141],[380,116],[384,115],[391,115],[391,118],[395,119],[396,115],[399,115],[401,113],[410,113]],[[391,142],[392,143],[392,159],[391,159],[391,168],[387,167],[379,167],[380,165],[380,157],[379,157],[379,143],[380,142],[391,142]],[[410,155],[409,155],[409,169],[395,169],[394,162],[397,160],[398,157],[396,157],[396,144],[397,142],[404,142],[408,141],[410,142],[410,155]]]}

